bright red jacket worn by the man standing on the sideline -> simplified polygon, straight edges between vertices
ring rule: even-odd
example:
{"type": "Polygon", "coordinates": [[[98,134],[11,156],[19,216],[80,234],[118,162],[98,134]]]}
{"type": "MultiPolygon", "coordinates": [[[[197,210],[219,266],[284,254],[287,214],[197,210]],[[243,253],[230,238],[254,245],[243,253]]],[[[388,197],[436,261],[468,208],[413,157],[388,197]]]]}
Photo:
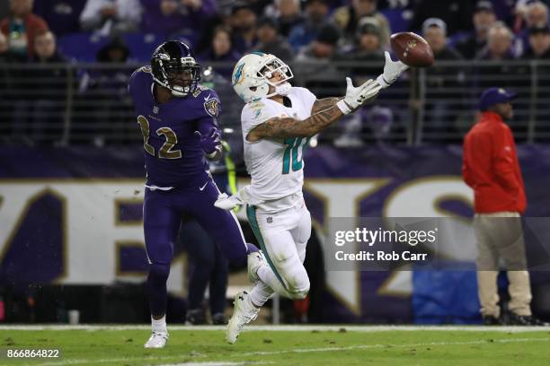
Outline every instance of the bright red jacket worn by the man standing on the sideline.
{"type": "Polygon", "coordinates": [[[475,213],[524,213],[525,188],[510,127],[483,112],[464,139],[462,176],[474,189],[475,213]]]}

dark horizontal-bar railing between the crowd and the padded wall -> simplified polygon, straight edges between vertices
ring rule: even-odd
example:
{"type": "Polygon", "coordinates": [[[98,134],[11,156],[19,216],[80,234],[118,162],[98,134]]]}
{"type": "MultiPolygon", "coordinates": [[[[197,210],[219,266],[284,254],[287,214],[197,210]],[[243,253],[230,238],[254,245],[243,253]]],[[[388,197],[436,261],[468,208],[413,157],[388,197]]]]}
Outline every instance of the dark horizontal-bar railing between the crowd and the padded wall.
{"type": "MultiPolygon", "coordinates": [[[[139,65],[0,65],[0,138],[4,144],[120,144],[142,137],[127,92],[139,65]]],[[[230,74],[233,65],[212,64],[230,74]]],[[[342,96],[345,76],[376,77],[380,63],[326,62],[291,65],[294,84],[318,98],[342,96]]],[[[231,83],[217,75],[213,86],[223,105],[220,123],[240,131],[240,110],[231,83]]],[[[510,121],[519,142],[550,139],[550,62],[438,62],[411,70],[377,100],[321,135],[321,144],[459,143],[475,121],[480,93],[491,86],[519,93],[510,121]]]]}

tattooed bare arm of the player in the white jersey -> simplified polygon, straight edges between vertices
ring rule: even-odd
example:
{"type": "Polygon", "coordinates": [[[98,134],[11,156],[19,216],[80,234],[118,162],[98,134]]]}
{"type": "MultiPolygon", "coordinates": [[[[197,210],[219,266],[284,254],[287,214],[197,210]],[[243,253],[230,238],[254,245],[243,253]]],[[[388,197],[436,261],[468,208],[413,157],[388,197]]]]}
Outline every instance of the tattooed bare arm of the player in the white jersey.
{"type": "Polygon", "coordinates": [[[268,119],[262,125],[255,126],[248,133],[247,139],[250,137],[249,141],[258,141],[262,137],[287,138],[313,136],[343,116],[342,111],[335,104],[338,99],[334,98],[334,100],[332,106],[318,111],[302,121],[295,118],[268,119]]]}

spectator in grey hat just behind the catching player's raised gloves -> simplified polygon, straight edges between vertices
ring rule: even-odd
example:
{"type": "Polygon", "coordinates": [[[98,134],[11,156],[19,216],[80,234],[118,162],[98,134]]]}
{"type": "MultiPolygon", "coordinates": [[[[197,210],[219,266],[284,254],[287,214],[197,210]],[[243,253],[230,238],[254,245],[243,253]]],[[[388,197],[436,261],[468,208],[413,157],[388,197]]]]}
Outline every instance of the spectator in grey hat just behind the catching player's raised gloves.
{"type": "Polygon", "coordinates": [[[377,18],[368,16],[359,21],[355,47],[348,54],[338,57],[338,60],[353,61],[350,69],[354,76],[373,78],[380,74],[384,67],[384,48],[382,47],[382,30],[377,18]],[[376,65],[362,65],[376,63],[376,65]]]}

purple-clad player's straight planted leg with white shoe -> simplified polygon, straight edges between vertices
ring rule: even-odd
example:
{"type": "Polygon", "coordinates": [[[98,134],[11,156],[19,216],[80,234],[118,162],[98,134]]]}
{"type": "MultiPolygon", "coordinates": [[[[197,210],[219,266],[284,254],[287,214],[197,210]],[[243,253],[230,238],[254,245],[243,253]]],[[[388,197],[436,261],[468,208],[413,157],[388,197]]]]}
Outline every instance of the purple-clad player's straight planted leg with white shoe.
{"type": "Polygon", "coordinates": [[[166,280],[170,274],[173,243],[181,223],[180,214],[170,205],[171,196],[171,192],[146,189],[144,200],[143,223],[149,260],[146,293],[153,328],[153,335],[146,342],[146,348],[162,348],[168,339],[166,280]]]}

